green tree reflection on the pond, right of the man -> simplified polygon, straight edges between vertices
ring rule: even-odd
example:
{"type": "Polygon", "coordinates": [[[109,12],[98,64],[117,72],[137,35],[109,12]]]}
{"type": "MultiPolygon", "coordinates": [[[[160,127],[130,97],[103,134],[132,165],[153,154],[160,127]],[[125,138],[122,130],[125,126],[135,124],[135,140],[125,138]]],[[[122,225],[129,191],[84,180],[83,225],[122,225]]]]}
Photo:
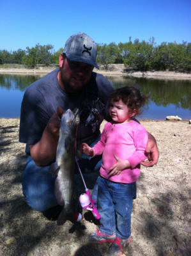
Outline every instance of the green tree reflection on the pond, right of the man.
{"type": "Polygon", "coordinates": [[[119,79],[107,77],[114,88],[121,86],[135,86],[141,92],[149,95],[149,102],[154,102],[157,106],[167,107],[174,104],[176,108],[191,110],[191,82],[185,80],[158,80],[146,78],[128,78],[119,79]]]}

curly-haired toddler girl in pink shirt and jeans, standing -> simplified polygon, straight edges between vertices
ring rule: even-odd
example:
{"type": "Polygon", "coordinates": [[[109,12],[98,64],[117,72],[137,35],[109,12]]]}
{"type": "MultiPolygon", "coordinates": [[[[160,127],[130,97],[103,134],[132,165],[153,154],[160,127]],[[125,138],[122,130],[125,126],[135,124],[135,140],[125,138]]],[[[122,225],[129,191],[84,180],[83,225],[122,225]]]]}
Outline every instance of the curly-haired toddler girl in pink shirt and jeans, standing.
{"type": "Polygon", "coordinates": [[[133,120],[141,113],[147,97],[137,88],[123,87],[111,93],[109,115],[100,141],[93,147],[82,143],[84,154],[94,157],[102,154],[98,184],[97,207],[100,229],[89,236],[90,242],[112,242],[111,255],[119,255],[130,242],[131,213],[136,197],[136,180],[140,163],[146,159],[148,142],[146,129],[133,120]]]}

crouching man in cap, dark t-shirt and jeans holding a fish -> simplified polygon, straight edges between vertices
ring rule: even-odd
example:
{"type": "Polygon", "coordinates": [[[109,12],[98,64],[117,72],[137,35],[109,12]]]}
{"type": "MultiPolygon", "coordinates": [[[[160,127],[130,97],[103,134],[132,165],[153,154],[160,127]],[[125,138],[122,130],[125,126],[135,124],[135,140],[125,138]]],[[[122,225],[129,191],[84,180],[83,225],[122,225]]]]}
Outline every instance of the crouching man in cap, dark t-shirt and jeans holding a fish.
{"type": "MultiPolygon", "coordinates": [[[[100,124],[107,118],[107,97],[113,88],[105,77],[93,72],[93,67],[98,68],[96,44],[85,33],[77,33],[66,41],[59,68],[31,84],[24,93],[19,141],[26,143],[28,157],[22,189],[27,204],[36,211],[60,211],[54,196],[55,178],[49,173],[49,166],[56,159],[58,116],[68,108],[79,108],[78,147],[82,142],[93,147],[100,138],[100,124]]],[[[151,161],[144,165],[153,166],[158,160],[158,148],[151,134],[149,139],[147,151],[151,161]]],[[[79,161],[88,188],[93,188],[101,163],[100,156],[91,159],[83,155],[79,161]]],[[[80,177],[75,169],[77,188],[80,177]]]]}

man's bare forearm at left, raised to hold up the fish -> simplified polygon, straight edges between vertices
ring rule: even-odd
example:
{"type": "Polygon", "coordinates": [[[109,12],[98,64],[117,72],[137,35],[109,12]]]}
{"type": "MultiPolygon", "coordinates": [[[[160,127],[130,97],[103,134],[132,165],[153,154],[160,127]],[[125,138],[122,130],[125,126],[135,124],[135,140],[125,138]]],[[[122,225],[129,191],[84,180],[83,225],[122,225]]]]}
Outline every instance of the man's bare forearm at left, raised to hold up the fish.
{"type": "Polygon", "coordinates": [[[57,114],[54,113],[45,130],[42,138],[34,145],[29,145],[31,157],[38,166],[46,166],[56,159],[57,142],[59,140],[60,119],[63,114],[61,107],[57,108],[57,114]]]}

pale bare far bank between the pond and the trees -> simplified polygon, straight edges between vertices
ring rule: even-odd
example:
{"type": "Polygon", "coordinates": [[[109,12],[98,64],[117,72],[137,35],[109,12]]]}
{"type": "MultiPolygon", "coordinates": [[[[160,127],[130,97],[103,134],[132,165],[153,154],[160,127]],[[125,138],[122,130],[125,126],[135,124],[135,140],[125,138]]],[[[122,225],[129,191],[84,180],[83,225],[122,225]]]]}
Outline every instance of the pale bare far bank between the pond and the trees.
{"type": "MultiPolygon", "coordinates": [[[[0,68],[0,74],[19,74],[19,75],[40,75],[48,74],[55,67],[40,67],[40,68],[0,68]]],[[[169,80],[190,80],[191,74],[172,72],[172,71],[126,71],[123,64],[111,64],[108,70],[94,69],[94,72],[102,74],[103,76],[126,76],[126,77],[143,77],[149,79],[169,79],[169,80]]]]}

